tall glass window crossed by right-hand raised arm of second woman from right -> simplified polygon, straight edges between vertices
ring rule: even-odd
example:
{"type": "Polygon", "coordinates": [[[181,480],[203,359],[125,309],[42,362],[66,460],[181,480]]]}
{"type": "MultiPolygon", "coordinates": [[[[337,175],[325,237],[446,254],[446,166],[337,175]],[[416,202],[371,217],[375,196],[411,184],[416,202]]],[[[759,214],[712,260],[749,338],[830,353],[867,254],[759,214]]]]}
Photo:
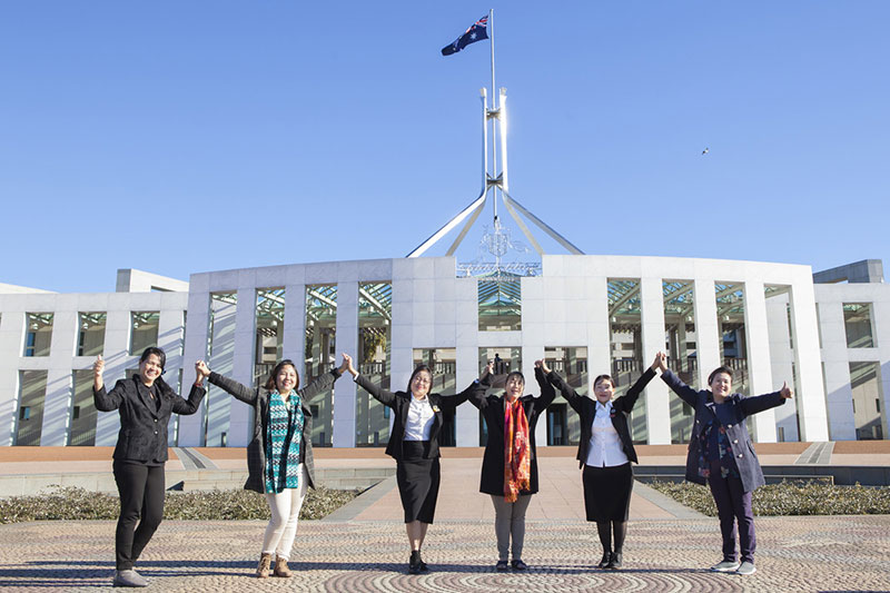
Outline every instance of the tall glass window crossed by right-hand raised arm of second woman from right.
{"type": "MultiPolygon", "coordinates": [[[[627,393],[631,385],[645,370],[640,280],[610,278],[606,290],[609,295],[611,375],[615,379],[614,396],[619,397],[627,393]]],[[[649,438],[645,397],[636,401],[631,413],[631,436],[634,443],[645,443],[649,438]]]]}

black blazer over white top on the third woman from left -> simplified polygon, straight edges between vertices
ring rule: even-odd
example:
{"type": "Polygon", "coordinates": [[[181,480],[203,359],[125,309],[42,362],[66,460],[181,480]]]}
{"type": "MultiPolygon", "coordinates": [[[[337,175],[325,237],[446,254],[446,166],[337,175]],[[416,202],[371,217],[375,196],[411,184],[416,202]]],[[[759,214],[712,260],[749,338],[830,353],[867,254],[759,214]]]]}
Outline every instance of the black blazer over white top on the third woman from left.
{"type": "MultiPolygon", "coordinates": [[[[393,419],[393,432],[389,433],[389,443],[386,445],[386,454],[394,457],[396,461],[402,461],[402,443],[405,438],[405,424],[408,422],[408,408],[411,407],[411,398],[414,397],[405,392],[388,392],[379,385],[373,384],[365,375],[358,375],[355,382],[366,392],[368,392],[376,401],[385,406],[393,408],[395,418],[393,419]]],[[[439,456],[438,449],[438,433],[442,431],[443,412],[453,413],[457,406],[467,401],[472,394],[477,391],[485,393],[488,388],[487,385],[474,380],[469,387],[456,395],[441,395],[431,393],[427,395],[429,405],[433,406],[433,426],[429,431],[429,459],[439,456]]]]}

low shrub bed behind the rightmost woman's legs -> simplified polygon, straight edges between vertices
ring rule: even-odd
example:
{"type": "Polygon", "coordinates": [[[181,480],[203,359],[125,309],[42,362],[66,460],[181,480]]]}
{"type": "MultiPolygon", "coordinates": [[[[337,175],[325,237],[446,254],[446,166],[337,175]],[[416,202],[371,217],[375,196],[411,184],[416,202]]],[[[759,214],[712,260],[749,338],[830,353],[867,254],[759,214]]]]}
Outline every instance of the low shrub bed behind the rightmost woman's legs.
{"type": "MultiPolygon", "coordinates": [[[[700,513],[716,516],[716,505],[708,486],[657,481],[649,485],[700,513]]],[[[890,514],[890,486],[784,481],[759,487],[752,501],[754,514],[759,516],[884,515],[890,514]]]]}

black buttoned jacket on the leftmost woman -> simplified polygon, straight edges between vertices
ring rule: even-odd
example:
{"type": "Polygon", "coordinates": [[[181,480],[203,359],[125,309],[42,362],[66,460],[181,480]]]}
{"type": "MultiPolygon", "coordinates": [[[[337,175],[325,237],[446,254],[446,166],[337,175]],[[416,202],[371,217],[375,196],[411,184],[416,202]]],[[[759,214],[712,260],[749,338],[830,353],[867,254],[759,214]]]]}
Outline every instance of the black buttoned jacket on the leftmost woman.
{"type": "Polygon", "coordinates": [[[188,401],[174,393],[164,379],[155,382],[155,394],[160,399],[157,406],[148,387],[134,375],[120,379],[110,392],[105,385],[98,392],[92,388],[92,403],[100,412],[117,409],[120,414],[120,433],[115,447],[116,459],[144,463],[167,461],[167,423],[170,414],[187,416],[198,411],[198,405],[207,391],[191,385],[188,401]]]}

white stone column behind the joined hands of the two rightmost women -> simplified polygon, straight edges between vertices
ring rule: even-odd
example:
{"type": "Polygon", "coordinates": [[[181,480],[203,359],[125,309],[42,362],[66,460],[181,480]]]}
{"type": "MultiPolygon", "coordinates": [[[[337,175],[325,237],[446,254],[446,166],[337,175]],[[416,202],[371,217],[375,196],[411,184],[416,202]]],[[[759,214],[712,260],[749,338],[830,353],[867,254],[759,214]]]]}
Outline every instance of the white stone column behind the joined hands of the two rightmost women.
{"type": "MultiPolygon", "coordinates": [[[[664,350],[664,289],[662,279],[643,277],[640,279],[641,324],[643,332],[643,368],[645,370],[655,359],[655,354],[664,350]]],[[[671,402],[668,385],[657,377],[645,389],[646,428],[650,445],[671,444],[671,402]]]]}

